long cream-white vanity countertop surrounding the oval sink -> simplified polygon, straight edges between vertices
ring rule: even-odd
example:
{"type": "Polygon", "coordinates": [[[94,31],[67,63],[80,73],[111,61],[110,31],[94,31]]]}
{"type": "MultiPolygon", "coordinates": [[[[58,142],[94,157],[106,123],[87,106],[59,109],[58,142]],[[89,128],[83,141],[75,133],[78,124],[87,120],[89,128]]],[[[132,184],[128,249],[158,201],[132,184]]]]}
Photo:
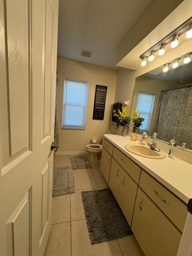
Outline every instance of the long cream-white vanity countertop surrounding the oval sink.
{"type": "Polygon", "coordinates": [[[169,158],[167,153],[165,153],[166,158],[164,159],[150,159],[135,155],[127,151],[125,145],[139,144],[139,141],[131,141],[129,136],[104,134],[104,137],[185,203],[192,198],[192,164],[182,161],[174,155],[173,158],[169,158]]]}

